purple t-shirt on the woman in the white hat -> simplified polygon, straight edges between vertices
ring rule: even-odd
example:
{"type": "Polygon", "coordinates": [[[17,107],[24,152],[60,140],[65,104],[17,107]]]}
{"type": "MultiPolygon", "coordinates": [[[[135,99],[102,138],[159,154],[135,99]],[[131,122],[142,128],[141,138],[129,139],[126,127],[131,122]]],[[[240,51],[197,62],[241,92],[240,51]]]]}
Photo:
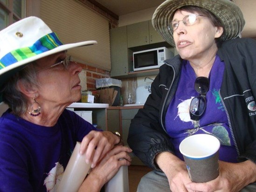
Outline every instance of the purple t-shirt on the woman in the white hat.
{"type": "Polygon", "coordinates": [[[5,112],[0,117],[0,191],[53,192],[76,141],[90,130],[97,129],[69,110],[53,127],[5,112]]]}

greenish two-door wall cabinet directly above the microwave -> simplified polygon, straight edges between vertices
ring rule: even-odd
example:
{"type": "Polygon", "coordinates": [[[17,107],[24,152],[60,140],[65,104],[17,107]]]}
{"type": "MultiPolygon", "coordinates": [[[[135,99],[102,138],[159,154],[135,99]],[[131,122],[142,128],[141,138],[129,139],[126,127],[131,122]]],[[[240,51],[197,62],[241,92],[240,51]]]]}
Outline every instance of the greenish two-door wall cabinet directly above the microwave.
{"type": "Polygon", "coordinates": [[[127,25],[128,48],[164,41],[165,40],[153,28],[151,20],[127,25]]]}

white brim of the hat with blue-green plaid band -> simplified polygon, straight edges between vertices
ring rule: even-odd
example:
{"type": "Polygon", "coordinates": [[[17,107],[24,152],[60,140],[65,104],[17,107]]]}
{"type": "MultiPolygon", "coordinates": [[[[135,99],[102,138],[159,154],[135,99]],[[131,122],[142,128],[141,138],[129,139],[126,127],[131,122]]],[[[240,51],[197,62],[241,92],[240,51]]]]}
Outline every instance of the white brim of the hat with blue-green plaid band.
{"type": "MultiPolygon", "coordinates": [[[[5,81],[7,81],[8,78],[10,78],[12,75],[17,73],[21,69],[23,69],[30,62],[36,61],[36,60],[41,59],[43,57],[46,57],[48,55],[52,55],[52,54],[55,54],[55,53],[59,53],[61,51],[68,50],[70,48],[83,47],[83,46],[89,46],[89,45],[95,45],[95,44],[97,44],[97,41],[83,41],[83,42],[60,45],[60,46],[58,46],[54,49],[43,52],[39,55],[35,55],[33,57],[29,57],[27,59],[24,59],[20,62],[13,63],[12,65],[9,65],[9,66],[0,70],[0,76],[1,76],[0,87],[3,85],[3,83],[5,81]]],[[[2,102],[2,94],[0,94],[0,103],[1,102],[2,102]]]]}

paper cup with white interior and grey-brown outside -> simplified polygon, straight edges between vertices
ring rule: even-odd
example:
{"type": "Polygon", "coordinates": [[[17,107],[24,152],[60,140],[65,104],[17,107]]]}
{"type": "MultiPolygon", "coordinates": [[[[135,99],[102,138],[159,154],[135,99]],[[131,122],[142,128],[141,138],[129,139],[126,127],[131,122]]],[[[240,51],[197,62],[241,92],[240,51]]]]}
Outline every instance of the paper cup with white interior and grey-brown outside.
{"type": "Polygon", "coordinates": [[[219,175],[220,141],[208,134],[196,134],[180,143],[180,152],[193,182],[203,183],[219,175]]]}

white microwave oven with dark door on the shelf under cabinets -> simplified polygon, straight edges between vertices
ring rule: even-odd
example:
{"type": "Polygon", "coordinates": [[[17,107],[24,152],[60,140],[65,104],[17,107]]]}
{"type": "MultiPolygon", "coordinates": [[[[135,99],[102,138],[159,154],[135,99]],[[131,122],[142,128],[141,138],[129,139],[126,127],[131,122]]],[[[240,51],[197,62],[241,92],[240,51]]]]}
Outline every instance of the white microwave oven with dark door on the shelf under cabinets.
{"type": "Polygon", "coordinates": [[[133,70],[157,69],[166,59],[171,59],[173,52],[166,47],[152,48],[133,52],[133,70]]]}

